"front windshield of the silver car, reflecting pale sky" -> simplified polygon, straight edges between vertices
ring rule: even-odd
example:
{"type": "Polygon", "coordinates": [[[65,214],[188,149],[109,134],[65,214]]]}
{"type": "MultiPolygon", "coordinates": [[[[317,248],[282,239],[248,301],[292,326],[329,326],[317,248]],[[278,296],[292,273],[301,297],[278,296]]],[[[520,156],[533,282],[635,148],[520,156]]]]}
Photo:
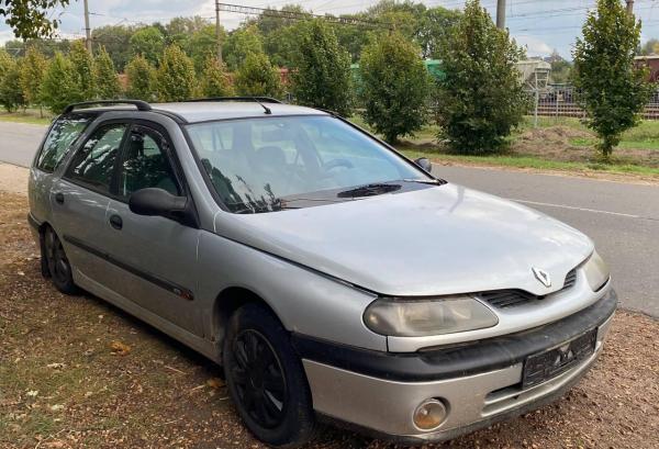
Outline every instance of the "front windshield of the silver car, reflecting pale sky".
{"type": "Polygon", "coordinates": [[[400,184],[433,181],[327,115],[204,122],[189,125],[188,134],[217,195],[236,213],[402,192],[400,184]]]}

